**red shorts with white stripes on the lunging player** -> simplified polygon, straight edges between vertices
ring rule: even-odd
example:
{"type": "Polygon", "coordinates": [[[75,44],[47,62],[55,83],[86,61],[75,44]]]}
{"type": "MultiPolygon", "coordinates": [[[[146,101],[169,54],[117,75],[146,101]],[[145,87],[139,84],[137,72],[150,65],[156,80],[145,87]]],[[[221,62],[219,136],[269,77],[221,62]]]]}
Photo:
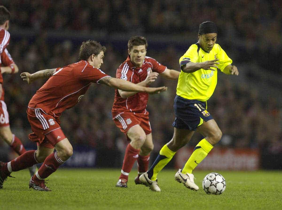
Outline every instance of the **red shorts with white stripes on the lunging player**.
{"type": "Polygon", "coordinates": [[[58,142],[66,138],[58,119],[41,109],[27,108],[27,119],[33,131],[28,137],[40,146],[54,148],[58,142]]]}

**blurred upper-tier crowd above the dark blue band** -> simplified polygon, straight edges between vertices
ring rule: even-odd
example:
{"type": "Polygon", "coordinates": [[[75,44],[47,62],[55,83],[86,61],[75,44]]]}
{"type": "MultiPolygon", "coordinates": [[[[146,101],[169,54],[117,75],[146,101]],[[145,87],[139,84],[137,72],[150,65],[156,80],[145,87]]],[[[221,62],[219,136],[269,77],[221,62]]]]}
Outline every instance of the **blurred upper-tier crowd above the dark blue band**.
{"type": "Polygon", "coordinates": [[[104,34],[169,34],[196,38],[203,21],[217,23],[221,42],[232,47],[233,59],[282,73],[281,1],[216,0],[122,1],[4,0],[14,30],[99,31],[104,34]],[[268,62],[265,62],[268,60],[268,62]]]}

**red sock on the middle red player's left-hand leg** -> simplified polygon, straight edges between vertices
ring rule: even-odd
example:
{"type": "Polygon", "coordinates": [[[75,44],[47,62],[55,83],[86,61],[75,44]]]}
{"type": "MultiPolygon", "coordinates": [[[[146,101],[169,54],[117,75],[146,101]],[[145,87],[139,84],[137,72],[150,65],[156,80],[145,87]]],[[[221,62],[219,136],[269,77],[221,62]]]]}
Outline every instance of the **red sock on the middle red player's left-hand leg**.
{"type": "Polygon", "coordinates": [[[125,155],[124,162],[122,165],[122,173],[120,174],[120,179],[128,180],[129,172],[131,171],[135,160],[138,158],[138,153],[140,149],[134,149],[130,144],[128,144],[125,155]]]}

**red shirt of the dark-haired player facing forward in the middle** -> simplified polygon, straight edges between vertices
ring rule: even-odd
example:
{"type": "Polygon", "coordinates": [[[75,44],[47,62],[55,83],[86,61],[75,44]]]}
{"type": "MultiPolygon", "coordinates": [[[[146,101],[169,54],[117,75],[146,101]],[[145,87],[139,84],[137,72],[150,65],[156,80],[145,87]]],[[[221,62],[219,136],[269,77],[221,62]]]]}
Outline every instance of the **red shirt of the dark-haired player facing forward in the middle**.
{"type": "MultiPolygon", "coordinates": [[[[128,56],[127,59],[116,70],[116,78],[121,78],[132,83],[139,83],[146,79],[150,71],[162,73],[166,70],[166,66],[158,63],[155,59],[145,57],[142,67],[134,67],[128,56]]],[[[126,99],[123,99],[118,90],[115,90],[114,104],[112,108],[113,117],[123,111],[143,113],[145,112],[149,95],[148,93],[136,93],[126,99]]]]}

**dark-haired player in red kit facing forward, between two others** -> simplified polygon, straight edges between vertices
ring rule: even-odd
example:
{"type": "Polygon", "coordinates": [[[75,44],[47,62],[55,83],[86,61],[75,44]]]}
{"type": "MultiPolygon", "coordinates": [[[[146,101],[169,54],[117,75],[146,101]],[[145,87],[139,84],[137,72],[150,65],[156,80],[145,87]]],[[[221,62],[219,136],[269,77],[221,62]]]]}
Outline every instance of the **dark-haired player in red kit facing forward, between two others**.
{"type": "MultiPolygon", "coordinates": [[[[179,71],[168,69],[155,59],[147,57],[148,43],[142,36],[131,37],[128,41],[128,57],[116,70],[116,78],[121,78],[138,86],[148,86],[160,74],[166,79],[176,80],[179,71]]],[[[149,112],[146,110],[147,93],[115,90],[112,109],[113,120],[130,141],[126,150],[121,174],[116,187],[127,187],[128,175],[135,160],[138,165],[136,184],[142,184],[139,176],[148,170],[150,152],[153,150],[149,112]]]]}

